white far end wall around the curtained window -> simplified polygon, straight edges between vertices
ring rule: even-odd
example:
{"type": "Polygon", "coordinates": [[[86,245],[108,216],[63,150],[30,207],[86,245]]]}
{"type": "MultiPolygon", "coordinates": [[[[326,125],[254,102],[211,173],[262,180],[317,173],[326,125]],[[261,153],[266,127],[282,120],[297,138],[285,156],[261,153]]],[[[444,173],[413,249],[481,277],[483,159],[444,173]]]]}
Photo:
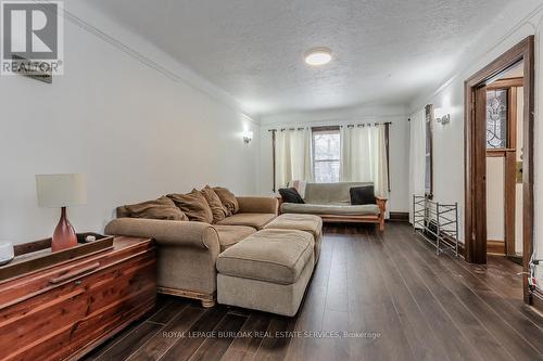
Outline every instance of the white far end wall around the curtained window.
{"type": "Polygon", "coordinates": [[[390,126],[390,180],[391,193],[388,209],[408,211],[409,128],[406,109],[400,107],[364,107],[321,112],[291,113],[261,118],[261,173],[258,192],[272,194],[273,158],[269,129],[295,126],[328,126],[353,123],[391,121],[390,126]]]}

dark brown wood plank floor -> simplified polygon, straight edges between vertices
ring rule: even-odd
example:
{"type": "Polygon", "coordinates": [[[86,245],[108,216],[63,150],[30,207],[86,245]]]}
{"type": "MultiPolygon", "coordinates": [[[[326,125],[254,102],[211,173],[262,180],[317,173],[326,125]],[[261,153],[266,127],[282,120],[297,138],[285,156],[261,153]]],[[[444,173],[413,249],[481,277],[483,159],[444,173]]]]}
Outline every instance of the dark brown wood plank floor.
{"type": "Polygon", "coordinates": [[[163,298],[86,360],[543,359],[543,318],[522,304],[519,266],[437,257],[404,223],[325,234],[296,318],[163,298]]]}

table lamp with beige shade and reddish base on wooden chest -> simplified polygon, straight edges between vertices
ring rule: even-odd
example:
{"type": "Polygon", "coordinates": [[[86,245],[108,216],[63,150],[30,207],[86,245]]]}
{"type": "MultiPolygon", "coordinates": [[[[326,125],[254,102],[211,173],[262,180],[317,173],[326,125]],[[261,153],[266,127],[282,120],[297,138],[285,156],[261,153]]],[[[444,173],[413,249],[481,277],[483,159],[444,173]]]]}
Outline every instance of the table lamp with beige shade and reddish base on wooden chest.
{"type": "Polygon", "coordinates": [[[61,208],[61,219],[54,229],[51,248],[53,252],[77,245],[77,235],[66,217],[66,207],[87,203],[87,186],[84,175],[37,175],[38,206],[61,208]]]}

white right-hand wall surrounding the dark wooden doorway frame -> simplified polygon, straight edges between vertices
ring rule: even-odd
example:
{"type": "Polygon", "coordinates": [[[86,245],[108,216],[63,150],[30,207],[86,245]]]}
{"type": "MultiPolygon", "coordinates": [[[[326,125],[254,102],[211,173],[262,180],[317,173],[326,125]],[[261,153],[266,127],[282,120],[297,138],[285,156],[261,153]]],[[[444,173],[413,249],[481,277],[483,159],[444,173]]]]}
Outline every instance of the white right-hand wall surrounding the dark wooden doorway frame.
{"type": "MultiPolygon", "coordinates": [[[[449,125],[435,124],[434,127],[434,197],[439,202],[458,202],[460,218],[460,241],[464,240],[464,81],[495,57],[510,49],[529,35],[536,37],[536,89],[543,81],[539,72],[543,56],[541,37],[543,36],[543,5],[536,0],[512,1],[507,9],[489,28],[467,47],[466,56],[458,64],[457,72],[430,94],[420,94],[412,102],[409,113],[422,108],[426,104],[445,109],[451,114],[449,125]]],[[[536,93],[535,117],[535,240],[543,257],[543,236],[541,235],[543,198],[539,183],[543,167],[543,142],[540,141],[539,119],[543,92],[536,93]]]]}

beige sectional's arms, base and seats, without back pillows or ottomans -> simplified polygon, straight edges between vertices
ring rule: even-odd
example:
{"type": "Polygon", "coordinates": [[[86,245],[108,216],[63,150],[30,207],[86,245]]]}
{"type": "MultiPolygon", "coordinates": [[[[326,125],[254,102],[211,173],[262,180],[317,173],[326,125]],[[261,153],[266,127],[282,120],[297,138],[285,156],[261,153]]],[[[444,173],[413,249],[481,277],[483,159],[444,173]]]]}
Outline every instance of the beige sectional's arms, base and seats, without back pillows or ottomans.
{"type": "Polygon", "coordinates": [[[236,197],[239,210],[210,224],[195,221],[126,218],[126,207],[117,208],[106,234],[153,237],[159,244],[159,292],[195,298],[205,307],[216,299],[218,255],[277,217],[274,197],[236,197]]]}

